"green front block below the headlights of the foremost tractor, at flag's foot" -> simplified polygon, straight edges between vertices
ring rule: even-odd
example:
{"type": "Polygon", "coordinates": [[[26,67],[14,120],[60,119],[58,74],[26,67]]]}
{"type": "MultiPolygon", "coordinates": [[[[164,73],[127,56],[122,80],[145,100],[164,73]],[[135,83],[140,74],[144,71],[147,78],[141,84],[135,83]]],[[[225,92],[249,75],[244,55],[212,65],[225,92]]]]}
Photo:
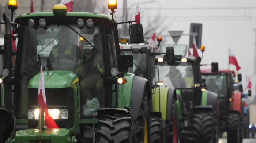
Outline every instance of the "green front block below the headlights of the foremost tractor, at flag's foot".
{"type": "Polygon", "coordinates": [[[45,129],[39,133],[38,129],[25,129],[16,132],[15,143],[29,143],[36,140],[42,140],[42,142],[52,143],[69,143],[70,133],[67,129],[45,129]]]}

